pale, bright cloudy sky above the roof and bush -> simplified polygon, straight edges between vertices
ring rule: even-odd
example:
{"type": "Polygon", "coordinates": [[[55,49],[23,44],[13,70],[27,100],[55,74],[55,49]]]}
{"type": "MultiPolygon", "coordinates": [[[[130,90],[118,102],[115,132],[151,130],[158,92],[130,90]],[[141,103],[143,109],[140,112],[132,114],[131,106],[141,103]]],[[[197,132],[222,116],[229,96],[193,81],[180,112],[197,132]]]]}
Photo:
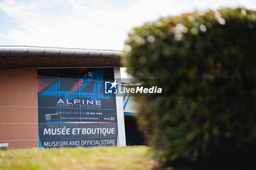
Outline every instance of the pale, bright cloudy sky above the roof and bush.
{"type": "Polygon", "coordinates": [[[0,45],[123,50],[143,23],[219,7],[256,0],[0,0],[0,45]]]}

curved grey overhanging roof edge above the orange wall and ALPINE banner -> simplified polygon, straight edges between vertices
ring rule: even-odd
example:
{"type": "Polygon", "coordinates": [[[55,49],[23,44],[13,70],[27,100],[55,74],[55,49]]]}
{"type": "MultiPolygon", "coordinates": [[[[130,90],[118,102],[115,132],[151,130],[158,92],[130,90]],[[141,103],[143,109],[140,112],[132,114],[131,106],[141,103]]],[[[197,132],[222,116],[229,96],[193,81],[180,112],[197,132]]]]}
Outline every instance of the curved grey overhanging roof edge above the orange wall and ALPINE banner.
{"type": "Polygon", "coordinates": [[[0,45],[0,69],[121,66],[118,50],[0,45]]]}

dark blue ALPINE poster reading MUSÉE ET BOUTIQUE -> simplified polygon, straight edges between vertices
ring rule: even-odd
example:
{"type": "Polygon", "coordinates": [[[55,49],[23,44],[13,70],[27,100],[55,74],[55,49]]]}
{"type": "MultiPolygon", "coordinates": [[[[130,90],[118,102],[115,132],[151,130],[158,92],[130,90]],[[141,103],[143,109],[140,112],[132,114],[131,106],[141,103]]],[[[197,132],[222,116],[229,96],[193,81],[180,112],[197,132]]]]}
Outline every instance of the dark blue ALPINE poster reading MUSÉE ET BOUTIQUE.
{"type": "Polygon", "coordinates": [[[37,69],[39,147],[116,146],[113,68],[37,69]]]}

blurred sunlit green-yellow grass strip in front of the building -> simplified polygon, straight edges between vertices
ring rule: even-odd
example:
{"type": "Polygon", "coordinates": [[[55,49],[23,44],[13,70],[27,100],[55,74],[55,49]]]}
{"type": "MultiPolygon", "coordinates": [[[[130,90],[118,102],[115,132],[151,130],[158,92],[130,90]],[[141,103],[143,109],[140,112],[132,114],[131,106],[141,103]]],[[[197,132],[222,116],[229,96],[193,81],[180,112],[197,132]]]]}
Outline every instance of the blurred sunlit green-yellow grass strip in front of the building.
{"type": "Polygon", "coordinates": [[[152,169],[147,155],[144,146],[0,150],[0,169],[152,169]]]}

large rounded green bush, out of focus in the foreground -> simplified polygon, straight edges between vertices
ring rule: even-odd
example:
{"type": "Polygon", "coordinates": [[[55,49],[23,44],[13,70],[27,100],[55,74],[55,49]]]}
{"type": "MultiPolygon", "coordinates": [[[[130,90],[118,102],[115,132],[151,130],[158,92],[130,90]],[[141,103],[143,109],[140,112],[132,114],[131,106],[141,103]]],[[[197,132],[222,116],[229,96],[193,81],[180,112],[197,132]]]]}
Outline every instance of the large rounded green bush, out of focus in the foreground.
{"type": "Polygon", "coordinates": [[[138,124],[161,163],[230,169],[255,161],[255,11],[160,18],[134,28],[124,50],[129,74],[165,92],[137,98],[138,124]]]}

